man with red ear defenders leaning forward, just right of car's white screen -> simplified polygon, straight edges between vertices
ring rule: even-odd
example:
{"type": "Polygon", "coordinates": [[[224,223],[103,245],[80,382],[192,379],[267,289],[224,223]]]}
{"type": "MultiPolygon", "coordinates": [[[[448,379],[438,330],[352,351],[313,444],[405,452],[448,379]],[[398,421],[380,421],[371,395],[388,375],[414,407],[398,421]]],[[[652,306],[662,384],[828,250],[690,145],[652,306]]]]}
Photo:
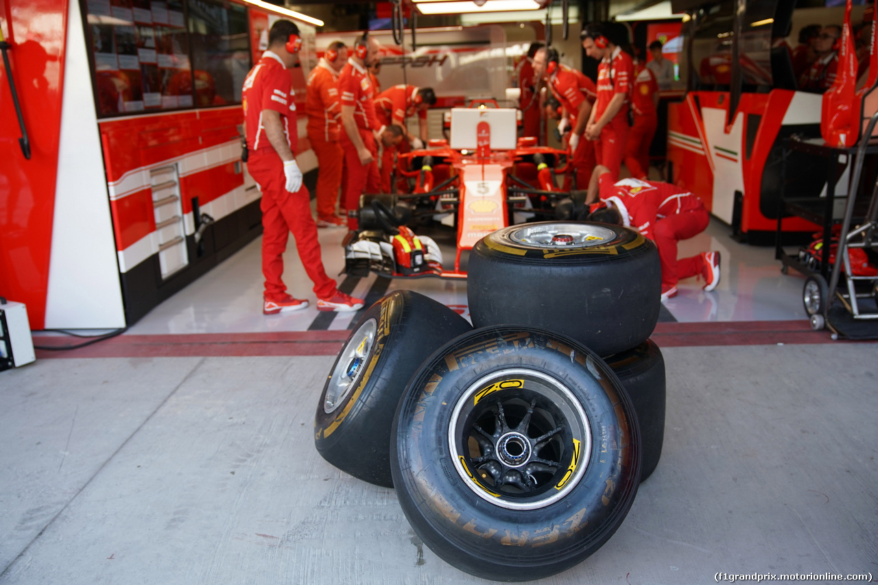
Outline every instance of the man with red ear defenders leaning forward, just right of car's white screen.
{"type": "MultiPolygon", "coordinates": [[[[552,96],[561,104],[558,134],[563,136],[567,128],[571,129],[567,143],[573,153],[576,189],[586,189],[594,170],[594,142],[580,139],[596,98],[594,82],[581,71],[562,65],[559,58],[554,47],[539,49],[534,55],[534,74],[549,85],[552,96]]],[[[568,173],[564,191],[570,191],[571,185],[572,174],[568,173]]]]}

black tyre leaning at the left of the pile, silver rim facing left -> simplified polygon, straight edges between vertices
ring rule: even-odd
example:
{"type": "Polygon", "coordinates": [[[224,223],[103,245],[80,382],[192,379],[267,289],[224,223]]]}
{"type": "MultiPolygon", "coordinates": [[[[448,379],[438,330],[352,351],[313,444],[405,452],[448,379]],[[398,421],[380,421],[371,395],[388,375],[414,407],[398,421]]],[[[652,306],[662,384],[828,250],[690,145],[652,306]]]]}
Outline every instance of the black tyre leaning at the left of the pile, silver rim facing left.
{"type": "Polygon", "coordinates": [[[412,291],[395,291],[369,307],[320,394],[314,444],[323,459],[392,488],[390,431],[399,396],[433,350],[471,329],[450,308],[412,291]]]}

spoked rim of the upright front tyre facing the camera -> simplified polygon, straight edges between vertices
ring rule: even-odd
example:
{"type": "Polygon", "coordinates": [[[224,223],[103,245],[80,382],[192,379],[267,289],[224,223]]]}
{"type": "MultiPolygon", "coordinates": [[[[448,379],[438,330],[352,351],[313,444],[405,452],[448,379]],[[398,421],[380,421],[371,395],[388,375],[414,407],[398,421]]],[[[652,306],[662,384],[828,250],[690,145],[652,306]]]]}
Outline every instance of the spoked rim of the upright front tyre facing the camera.
{"type": "Polygon", "coordinates": [[[451,413],[448,441],[467,488],[519,510],[544,508],[569,494],[592,446],[588,417],[570,389],[521,368],[468,386],[451,413]]]}

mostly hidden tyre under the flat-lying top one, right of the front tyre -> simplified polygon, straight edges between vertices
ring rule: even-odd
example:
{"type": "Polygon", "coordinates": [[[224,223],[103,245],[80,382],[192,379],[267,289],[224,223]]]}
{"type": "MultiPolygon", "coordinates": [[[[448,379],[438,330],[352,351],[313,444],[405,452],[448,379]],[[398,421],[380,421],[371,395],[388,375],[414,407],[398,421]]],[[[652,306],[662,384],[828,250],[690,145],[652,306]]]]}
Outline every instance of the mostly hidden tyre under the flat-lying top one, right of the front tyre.
{"type": "Polygon", "coordinates": [[[665,442],[665,358],[647,339],[633,350],[604,358],[628,393],[640,423],[640,480],[648,478],[661,458],[665,442]]]}

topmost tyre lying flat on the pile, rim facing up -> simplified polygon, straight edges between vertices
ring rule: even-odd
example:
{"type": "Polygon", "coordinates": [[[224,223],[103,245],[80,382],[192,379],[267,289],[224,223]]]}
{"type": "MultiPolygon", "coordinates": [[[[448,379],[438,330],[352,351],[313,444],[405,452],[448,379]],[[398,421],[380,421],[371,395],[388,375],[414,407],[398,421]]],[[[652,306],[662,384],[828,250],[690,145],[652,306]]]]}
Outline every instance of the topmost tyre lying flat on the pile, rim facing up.
{"type": "Polygon", "coordinates": [[[659,321],[659,249],[628,227],[502,227],[476,242],[468,270],[474,327],[536,325],[609,356],[644,343],[659,321]]]}

